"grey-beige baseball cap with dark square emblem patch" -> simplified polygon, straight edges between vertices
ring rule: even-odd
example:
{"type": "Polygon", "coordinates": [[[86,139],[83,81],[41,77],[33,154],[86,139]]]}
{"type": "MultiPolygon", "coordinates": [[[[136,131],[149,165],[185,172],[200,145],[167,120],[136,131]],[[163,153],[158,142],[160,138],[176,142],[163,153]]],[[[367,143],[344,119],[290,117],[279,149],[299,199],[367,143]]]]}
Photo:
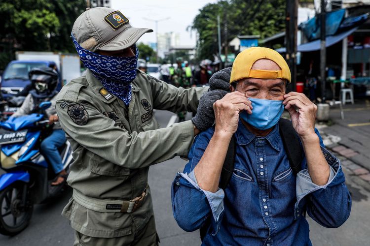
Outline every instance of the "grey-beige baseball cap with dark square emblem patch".
{"type": "Polygon", "coordinates": [[[78,44],[89,51],[126,49],[138,41],[148,28],[133,28],[117,10],[106,7],[87,8],[75,20],[72,35],[78,44]]]}

